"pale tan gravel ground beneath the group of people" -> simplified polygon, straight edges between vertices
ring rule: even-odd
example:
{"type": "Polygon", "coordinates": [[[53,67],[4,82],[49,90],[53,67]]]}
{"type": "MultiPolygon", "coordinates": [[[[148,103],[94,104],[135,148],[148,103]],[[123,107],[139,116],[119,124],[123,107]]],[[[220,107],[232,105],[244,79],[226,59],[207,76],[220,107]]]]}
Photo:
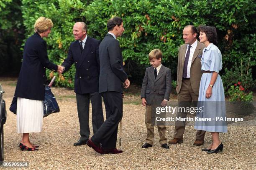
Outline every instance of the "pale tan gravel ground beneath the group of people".
{"type": "MultiPolygon", "coordinates": [[[[8,109],[14,94],[16,79],[0,77],[0,83],[5,90],[4,99],[8,109]]],[[[101,155],[95,153],[87,145],[73,146],[73,143],[79,139],[79,122],[73,90],[52,87],[52,92],[56,96],[61,112],[45,117],[43,131],[30,135],[32,143],[40,145],[38,151],[20,150],[18,145],[21,134],[16,133],[16,115],[8,110],[7,121],[4,125],[5,161],[27,161],[29,163],[26,168],[8,169],[256,169],[255,120],[245,122],[245,124],[240,123],[239,126],[229,126],[227,134],[220,134],[224,150],[219,154],[207,154],[201,151],[201,148],[210,144],[210,133],[206,133],[205,145],[202,147],[192,145],[196,133],[193,126],[186,127],[184,143],[170,145],[169,150],[161,148],[155,128],[153,148],[142,149],[141,145],[146,138],[145,108],[140,105],[138,94],[130,94],[126,95],[123,106],[123,153],[101,155]]],[[[91,123],[90,127],[92,127],[91,123]]],[[[168,126],[166,132],[168,140],[172,139],[173,132],[174,126],[168,126]]],[[[119,142],[117,147],[118,145],[119,142]]]]}

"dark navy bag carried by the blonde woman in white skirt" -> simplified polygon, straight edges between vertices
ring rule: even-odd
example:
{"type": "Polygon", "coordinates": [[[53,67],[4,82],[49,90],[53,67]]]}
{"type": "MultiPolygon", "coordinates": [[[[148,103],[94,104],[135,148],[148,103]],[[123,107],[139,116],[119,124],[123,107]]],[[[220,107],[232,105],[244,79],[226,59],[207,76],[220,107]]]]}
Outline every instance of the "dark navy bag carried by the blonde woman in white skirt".
{"type": "MultiPolygon", "coordinates": [[[[51,85],[53,81],[55,80],[54,78],[51,80],[49,86],[45,87],[45,96],[44,96],[44,117],[50,115],[51,113],[56,113],[59,112],[59,105],[57,103],[56,98],[54,97],[54,94],[51,92],[51,85]]],[[[13,97],[13,101],[10,105],[11,112],[14,114],[17,114],[17,97],[13,97]]]]}

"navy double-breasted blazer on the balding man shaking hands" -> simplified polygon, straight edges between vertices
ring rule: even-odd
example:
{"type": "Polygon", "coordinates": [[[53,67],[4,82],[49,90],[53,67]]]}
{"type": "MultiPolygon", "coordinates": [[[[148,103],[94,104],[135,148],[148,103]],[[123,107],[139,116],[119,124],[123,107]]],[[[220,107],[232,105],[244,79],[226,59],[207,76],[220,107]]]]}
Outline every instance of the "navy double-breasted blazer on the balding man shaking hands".
{"type": "Polygon", "coordinates": [[[61,65],[65,67],[64,72],[66,72],[73,63],[75,64],[75,93],[86,94],[98,91],[100,75],[99,45],[99,40],[89,36],[87,37],[82,53],[79,40],[70,44],[68,56],[61,65]]]}

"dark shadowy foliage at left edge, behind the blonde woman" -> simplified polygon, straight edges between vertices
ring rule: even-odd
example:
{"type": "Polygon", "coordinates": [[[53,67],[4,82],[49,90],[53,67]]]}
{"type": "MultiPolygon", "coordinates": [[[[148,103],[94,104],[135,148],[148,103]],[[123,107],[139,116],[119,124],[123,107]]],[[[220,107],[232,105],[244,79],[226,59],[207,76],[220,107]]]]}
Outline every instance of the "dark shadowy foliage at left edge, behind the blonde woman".
{"type": "Polygon", "coordinates": [[[20,0],[0,0],[0,75],[12,76],[20,71],[24,27],[20,0]]]}

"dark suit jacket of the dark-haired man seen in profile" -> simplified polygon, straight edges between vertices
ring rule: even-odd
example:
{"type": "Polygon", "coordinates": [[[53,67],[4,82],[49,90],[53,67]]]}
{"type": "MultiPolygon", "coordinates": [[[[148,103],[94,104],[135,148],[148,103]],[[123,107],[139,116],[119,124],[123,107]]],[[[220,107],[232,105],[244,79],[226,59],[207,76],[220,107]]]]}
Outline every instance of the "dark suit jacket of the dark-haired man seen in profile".
{"type": "Polygon", "coordinates": [[[123,92],[123,82],[127,75],[123,70],[123,56],[118,40],[107,34],[99,47],[100,80],[99,93],[123,92]]]}

